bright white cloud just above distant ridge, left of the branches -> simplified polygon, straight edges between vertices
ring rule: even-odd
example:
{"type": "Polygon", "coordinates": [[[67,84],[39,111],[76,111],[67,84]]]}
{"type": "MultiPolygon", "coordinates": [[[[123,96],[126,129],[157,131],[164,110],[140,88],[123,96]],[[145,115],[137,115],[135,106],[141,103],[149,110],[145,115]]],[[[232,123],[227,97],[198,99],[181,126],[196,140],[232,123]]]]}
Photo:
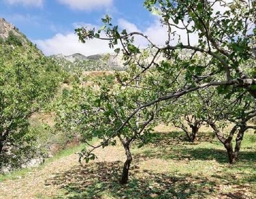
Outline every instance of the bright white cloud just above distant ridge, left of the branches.
{"type": "Polygon", "coordinates": [[[74,33],[56,34],[53,38],[47,40],[34,40],[38,48],[41,49],[45,55],[71,55],[74,53],[81,53],[85,56],[95,55],[106,52],[113,52],[108,47],[108,41],[103,40],[88,40],[86,43],[78,41],[78,36],[74,33]]]}

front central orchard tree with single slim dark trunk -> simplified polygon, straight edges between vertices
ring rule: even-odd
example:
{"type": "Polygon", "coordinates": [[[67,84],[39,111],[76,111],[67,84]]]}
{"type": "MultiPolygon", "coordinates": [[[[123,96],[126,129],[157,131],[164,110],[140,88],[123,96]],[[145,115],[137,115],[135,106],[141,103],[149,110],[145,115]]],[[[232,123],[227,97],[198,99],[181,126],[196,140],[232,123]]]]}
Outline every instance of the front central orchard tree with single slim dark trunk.
{"type": "Polygon", "coordinates": [[[116,76],[90,77],[86,78],[87,86],[73,85],[70,93],[59,99],[58,104],[61,106],[58,105],[55,125],[58,130],[64,132],[79,132],[81,140],[90,146],[81,152],[79,161],[85,159],[88,162],[95,159],[96,156],[92,153],[94,149],[116,145],[118,139],[126,155],[120,178],[121,184],[128,182],[132,144],[135,142],[142,147],[151,139],[150,132],[158,123],[157,116],[160,111],[159,104],[141,109],[130,119],[129,124],[120,130],[115,139],[109,139],[134,107],[143,104],[153,95],[143,89],[142,80],[138,80],[130,87],[117,84],[118,79],[125,77],[127,78],[126,72],[118,73],[116,76]],[[90,144],[93,138],[101,141],[98,146],[90,144]]]}

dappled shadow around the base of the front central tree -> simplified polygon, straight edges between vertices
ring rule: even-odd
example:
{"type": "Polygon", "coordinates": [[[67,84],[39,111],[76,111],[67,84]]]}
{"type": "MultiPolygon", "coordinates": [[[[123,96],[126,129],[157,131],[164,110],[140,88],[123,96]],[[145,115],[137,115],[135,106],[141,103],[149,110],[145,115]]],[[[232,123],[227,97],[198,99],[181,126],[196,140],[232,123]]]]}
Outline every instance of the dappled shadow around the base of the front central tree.
{"type": "Polygon", "coordinates": [[[76,166],[47,183],[65,189],[64,198],[68,199],[100,199],[102,196],[124,199],[186,199],[190,196],[206,198],[214,192],[215,182],[208,179],[150,172],[140,175],[139,171],[132,172],[128,184],[120,185],[117,179],[120,177],[121,165],[121,162],[116,161],[76,166]]]}

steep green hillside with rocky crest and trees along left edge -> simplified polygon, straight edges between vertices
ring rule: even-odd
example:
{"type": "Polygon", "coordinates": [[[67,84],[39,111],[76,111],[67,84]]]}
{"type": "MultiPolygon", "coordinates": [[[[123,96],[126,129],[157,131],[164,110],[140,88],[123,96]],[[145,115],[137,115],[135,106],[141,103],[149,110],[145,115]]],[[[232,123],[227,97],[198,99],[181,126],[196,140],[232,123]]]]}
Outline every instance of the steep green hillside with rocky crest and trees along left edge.
{"type": "Polygon", "coordinates": [[[60,146],[60,139],[54,142],[42,127],[46,114],[41,120],[35,116],[56,95],[62,72],[18,28],[0,19],[0,173],[37,165],[53,144],[60,146]]]}

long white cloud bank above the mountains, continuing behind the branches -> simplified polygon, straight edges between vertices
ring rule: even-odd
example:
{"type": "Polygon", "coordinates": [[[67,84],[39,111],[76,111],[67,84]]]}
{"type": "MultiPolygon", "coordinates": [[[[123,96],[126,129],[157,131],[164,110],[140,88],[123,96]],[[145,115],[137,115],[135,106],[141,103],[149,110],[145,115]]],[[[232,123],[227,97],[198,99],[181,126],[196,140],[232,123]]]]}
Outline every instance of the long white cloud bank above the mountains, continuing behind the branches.
{"type": "MultiPolygon", "coordinates": [[[[83,23],[83,22],[74,22],[74,28],[77,27],[87,27],[97,29],[98,27],[90,24],[90,23],[83,23]]],[[[150,40],[155,42],[158,45],[164,45],[165,41],[167,40],[167,28],[162,26],[159,20],[155,20],[149,27],[147,27],[144,31],[141,31],[135,24],[120,19],[118,20],[118,26],[121,29],[126,29],[127,32],[143,32],[147,35],[150,40]]],[[[184,44],[187,44],[187,37],[186,32],[179,30],[178,28],[173,28],[172,31],[177,31],[177,34],[181,36],[181,41],[184,44]]],[[[103,33],[102,33],[103,34],[103,33]]],[[[102,35],[104,37],[104,35],[102,35]]],[[[197,42],[198,36],[197,34],[190,35],[190,44],[193,45],[197,42]]],[[[94,54],[100,53],[108,53],[113,52],[113,49],[109,48],[107,40],[88,40],[86,43],[81,43],[78,41],[78,36],[74,33],[68,34],[56,34],[54,37],[47,39],[47,40],[34,40],[37,46],[46,54],[46,55],[53,55],[53,54],[64,54],[64,55],[71,55],[74,53],[81,53],[83,55],[89,56],[94,54]]],[[[174,37],[172,40],[172,44],[175,45],[178,42],[178,37],[174,37]]],[[[135,37],[135,44],[140,46],[141,48],[146,47],[149,43],[147,40],[140,36],[135,37]]],[[[116,46],[117,47],[117,46],[116,46]]]]}

